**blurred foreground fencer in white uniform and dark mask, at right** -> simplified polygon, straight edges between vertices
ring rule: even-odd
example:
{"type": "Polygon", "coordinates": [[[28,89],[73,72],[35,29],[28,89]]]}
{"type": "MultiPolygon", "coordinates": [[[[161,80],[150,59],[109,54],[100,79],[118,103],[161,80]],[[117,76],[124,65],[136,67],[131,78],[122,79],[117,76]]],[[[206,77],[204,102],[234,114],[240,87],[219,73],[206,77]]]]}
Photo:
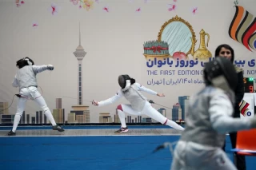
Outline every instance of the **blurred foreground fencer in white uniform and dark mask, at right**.
{"type": "Polygon", "coordinates": [[[235,170],[222,150],[226,133],[256,128],[256,117],[233,118],[237,73],[225,57],[203,70],[206,87],[190,97],[186,128],[174,150],[171,170],[235,170]]]}

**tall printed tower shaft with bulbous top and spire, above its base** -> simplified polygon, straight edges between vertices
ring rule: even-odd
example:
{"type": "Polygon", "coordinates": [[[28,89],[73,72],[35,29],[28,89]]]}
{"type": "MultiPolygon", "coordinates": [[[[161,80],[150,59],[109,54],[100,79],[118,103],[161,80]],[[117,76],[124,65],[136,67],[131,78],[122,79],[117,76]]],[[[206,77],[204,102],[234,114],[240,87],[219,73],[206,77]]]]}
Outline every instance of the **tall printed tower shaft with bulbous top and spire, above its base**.
{"type": "Polygon", "coordinates": [[[74,56],[78,59],[78,105],[82,105],[83,95],[82,95],[82,59],[86,56],[85,49],[81,45],[81,32],[80,32],[80,22],[79,22],[79,45],[74,51],[74,56]]]}

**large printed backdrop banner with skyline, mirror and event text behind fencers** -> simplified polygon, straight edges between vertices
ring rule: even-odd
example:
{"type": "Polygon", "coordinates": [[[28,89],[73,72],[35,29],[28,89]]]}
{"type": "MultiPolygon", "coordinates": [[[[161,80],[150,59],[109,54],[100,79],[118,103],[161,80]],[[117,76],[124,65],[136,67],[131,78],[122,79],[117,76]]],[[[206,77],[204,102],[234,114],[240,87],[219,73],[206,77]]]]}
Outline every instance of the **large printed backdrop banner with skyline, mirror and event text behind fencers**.
{"type": "MultiPolygon", "coordinates": [[[[204,86],[203,67],[215,59],[218,45],[234,49],[246,93],[254,92],[255,6],[256,1],[238,0],[0,1],[0,108],[11,105],[4,114],[13,121],[16,61],[30,57],[35,65],[54,65],[37,78],[58,123],[118,122],[116,108],[127,103],[125,98],[104,107],[91,101],[114,96],[120,74],[164,93],[143,94],[159,103],[153,106],[165,117],[186,121],[190,96],[204,86]]],[[[253,101],[245,95],[243,117],[253,115],[253,101]]],[[[45,121],[37,105],[28,102],[25,112],[22,122],[45,121]]],[[[126,115],[126,122],[154,120],[126,115]]]]}

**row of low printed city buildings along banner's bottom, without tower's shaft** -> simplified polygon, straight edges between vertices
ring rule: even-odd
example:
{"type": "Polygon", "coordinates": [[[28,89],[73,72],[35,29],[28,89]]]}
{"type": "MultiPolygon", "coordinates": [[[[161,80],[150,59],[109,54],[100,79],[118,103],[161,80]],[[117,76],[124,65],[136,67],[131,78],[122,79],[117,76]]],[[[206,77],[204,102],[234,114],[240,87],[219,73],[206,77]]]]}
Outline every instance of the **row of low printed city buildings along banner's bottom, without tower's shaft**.
{"type": "MultiPolygon", "coordinates": [[[[178,102],[172,106],[172,109],[165,108],[158,109],[164,117],[178,122],[186,122],[186,113],[188,112],[189,96],[178,97],[178,102]]],[[[1,124],[12,124],[14,122],[15,113],[10,114],[8,111],[8,102],[0,102],[1,124]]],[[[90,110],[86,105],[73,105],[73,110],[67,113],[67,120],[65,120],[65,109],[62,108],[62,98],[56,98],[56,108],[52,110],[54,120],[58,124],[88,124],[90,122],[90,110]]],[[[120,123],[118,111],[115,109],[114,115],[110,113],[98,113],[98,122],[94,123],[120,123]]],[[[134,116],[126,114],[126,123],[158,123],[154,119],[145,116],[134,116]]],[[[20,124],[50,124],[42,110],[38,110],[33,114],[26,114],[23,112],[20,124]]]]}

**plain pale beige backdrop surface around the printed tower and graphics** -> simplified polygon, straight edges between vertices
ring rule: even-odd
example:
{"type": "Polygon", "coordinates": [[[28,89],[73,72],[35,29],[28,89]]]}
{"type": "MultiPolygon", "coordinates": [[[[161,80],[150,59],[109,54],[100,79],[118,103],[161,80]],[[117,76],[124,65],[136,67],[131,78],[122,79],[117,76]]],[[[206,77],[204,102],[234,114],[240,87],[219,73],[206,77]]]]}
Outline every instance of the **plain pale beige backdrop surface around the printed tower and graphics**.
{"type": "MultiPolygon", "coordinates": [[[[19,3],[21,3],[20,1],[19,3]]],[[[130,74],[136,81],[146,87],[165,93],[166,97],[152,97],[145,94],[158,104],[172,108],[178,102],[179,96],[190,96],[202,88],[202,65],[182,67],[174,65],[147,66],[149,61],[143,53],[144,42],[158,39],[158,33],[162,25],[176,15],[189,22],[194,30],[197,50],[200,43],[200,31],[203,29],[210,35],[206,49],[214,56],[215,48],[227,43],[235,50],[235,59],[244,60],[245,77],[255,77],[248,74],[253,71],[248,62],[255,56],[254,49],[246,49],[245,45],[234,41],[228,34],[230,23],[234,18],[234,0],[215,1],[90,1],[93,9],[79,9],[79,4],[74,5],[69,0],[24,0],[24,4],[17,7],[14,1],[0,1],[0,102],[11,104],[12,97],[18,93],[18,89],[11,86],[16,61],[22,57],[31,57],[36,65],[54,65],[54,71],[38,74],[39,89],[46,99],[50,109],[55,108],[55,99],[62,98],[62,108],[70,113],[71,106],[77,105],[78,98],[78,61],[73,52],[78,47],[79,22],[81,27],[81,45],[86,51],[82,61],[83,72],[83,96],[84,105],[90,106],[90,121],[98,122],[99,113],[114,115],[116,105],[126,103],[124,99],[114,105],[97,108],[91,106],[90,101],[102,101],[114,96],[118,91],[118,75],[130,74]],[[92,2],[94,2],[92,4],[92,2]],[[145,3],[146,2],[146,3],[145,3]],[[53,15],[51,4],[58,10],[53,15]],[[168,4],[172,4],[171,6],[168,4]],[[175,6],[175,7],[174,7],[175,6]],[[107,7],[108,12],[104,10],[107,7]],[[174,10],[170,10],[174,7],[174,10]],[[197,10],[196,10],[197,9],[197,10]],[[139,10],[137,12],[136,10],[139,10]],[[193,10],[195,13],[193,13],[193,10]],[[160,66],[160,67],[158,67],[160,66]],[[158,75],[149,75],[148,71],[154,71],[158,75]],[[161,70],[175,72],[174,75],[159,75],[161,70]],[[178,71],[199,71],[199,75],[178,75],[178,71]],[[154,84],[163,79],[170,82],[176,81],[176,85],[154,84]],[[189,83],[186,78],[200,83],[189,83]],[[177,84],[177,80],[179,83],[177,84]]],[[[83,6],[81,1],[81,5],[83,6]]],[[[255,16],[254,0],[239,1],[238,6],[255,16]]],[[[253,17],[254,18],[254,17],[253,17]]],[[[186,37],[187,38],[187,37],[186,37]]],[[[207,42],[207,36],[205,36],[207,42]]],[[[189,43],[189,42],[188,42],[189,43]]],[[[171,46],[169,48],[172,48],[171,46]]],[[[187,57],[193,61],[191,54],[187,57]]],[[[159,59],[159,58],[158,58],[159,59]]],[[[208,60],[208,59],[207,59],[208,60]]],[[[251,63],[250,63],[251,64],[251,63]]],[[[9,113],[15,113],[17,97],[10,107],[9,113]]],[[[38,106],[27,102],[26,113],[34,115],[39,110],[38,106]]],[[[156,109],[161,108],[154,105],[156,109]]],[[[167,112],[171,112],[168,109],[167,112]]],[[[66,115],[67,119],[67,115],[66,115]]]]}

